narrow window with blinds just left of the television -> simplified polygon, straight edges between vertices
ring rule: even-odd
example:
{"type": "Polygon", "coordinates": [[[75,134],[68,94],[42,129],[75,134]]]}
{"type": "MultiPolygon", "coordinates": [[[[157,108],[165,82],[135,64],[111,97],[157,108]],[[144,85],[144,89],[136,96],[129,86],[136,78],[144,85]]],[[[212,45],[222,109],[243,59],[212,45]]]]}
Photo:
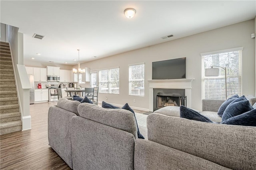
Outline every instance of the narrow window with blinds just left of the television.
{"type": "Polygon", "coordinates": [[[129,66],[129,95],[144,96],[144,65],[129,66]]]}

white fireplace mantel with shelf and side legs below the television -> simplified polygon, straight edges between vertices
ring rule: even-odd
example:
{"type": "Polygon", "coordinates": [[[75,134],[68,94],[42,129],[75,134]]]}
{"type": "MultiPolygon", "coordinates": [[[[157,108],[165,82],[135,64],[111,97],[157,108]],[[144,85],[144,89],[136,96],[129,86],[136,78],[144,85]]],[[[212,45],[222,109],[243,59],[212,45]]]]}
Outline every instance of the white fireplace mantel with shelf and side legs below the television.
{"type": "Polygon", "coordinates": [[[187,96],[187,107],[191,107],[191,89],[194,79],[166,79],[148,80],[149,82],[149,111],[153,111],[154,89],[185,89],[187,96]]]}

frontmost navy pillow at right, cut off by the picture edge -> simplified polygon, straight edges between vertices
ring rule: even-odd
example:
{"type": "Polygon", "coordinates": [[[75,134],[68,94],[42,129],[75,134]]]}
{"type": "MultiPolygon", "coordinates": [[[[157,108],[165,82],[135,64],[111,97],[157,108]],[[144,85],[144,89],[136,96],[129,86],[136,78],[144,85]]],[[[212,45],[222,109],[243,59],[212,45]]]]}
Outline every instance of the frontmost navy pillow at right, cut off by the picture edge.
{"type": "Polygon", "coordinates": [[[225,121],[222,121],[222,124],[256,127],[256,109],[231,117],[225,121]]]}

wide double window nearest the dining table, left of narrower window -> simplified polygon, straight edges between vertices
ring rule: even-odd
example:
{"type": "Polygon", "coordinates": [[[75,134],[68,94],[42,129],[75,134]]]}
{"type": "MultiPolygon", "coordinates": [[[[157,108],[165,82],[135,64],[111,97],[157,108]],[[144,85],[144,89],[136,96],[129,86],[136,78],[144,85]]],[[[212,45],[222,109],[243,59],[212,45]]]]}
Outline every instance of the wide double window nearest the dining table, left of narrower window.
{"type": "Polygon", "coordinates": [[[119,94],[119,68],[99,71],[99,93],[119,94]]]}

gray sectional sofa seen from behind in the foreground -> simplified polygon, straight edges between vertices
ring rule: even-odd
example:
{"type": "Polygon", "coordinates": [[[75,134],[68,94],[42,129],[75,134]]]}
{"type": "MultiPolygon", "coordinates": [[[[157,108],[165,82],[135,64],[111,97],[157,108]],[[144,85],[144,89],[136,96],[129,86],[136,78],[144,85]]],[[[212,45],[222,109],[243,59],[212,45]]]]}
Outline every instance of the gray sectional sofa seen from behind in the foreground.
{"type": "Polygon", "coordinates": [[[255,170],[256,127],[153,113],[147,130],[138,139],[130,111],[66,99],[48,113],[49,145],[74,170],[255,170]]]}

